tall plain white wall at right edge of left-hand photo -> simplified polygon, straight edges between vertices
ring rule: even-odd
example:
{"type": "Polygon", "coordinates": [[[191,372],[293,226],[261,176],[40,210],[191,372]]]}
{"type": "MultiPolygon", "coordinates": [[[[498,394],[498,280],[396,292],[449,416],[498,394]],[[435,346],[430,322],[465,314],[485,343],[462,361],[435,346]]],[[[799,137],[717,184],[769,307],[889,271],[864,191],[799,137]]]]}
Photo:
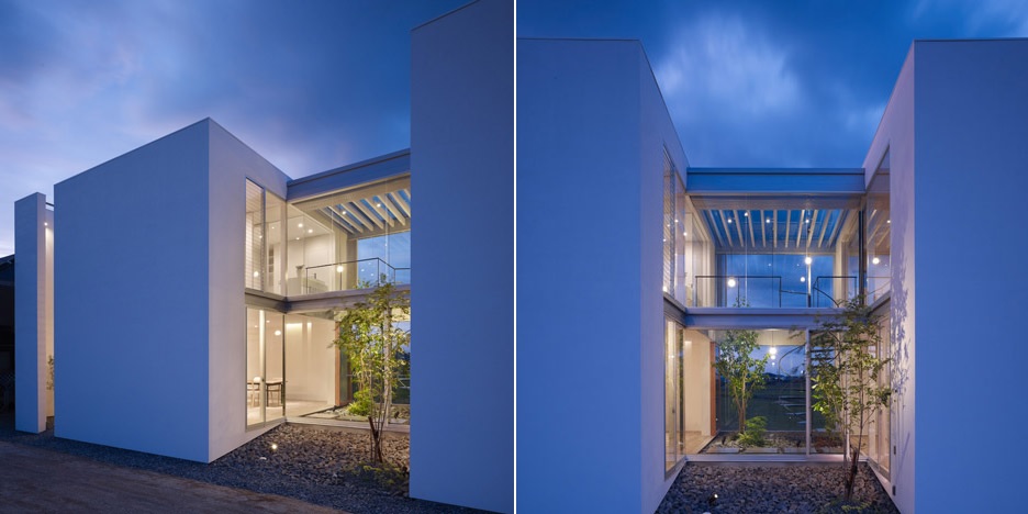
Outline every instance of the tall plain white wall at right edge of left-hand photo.
{"type": "Polygon", "coordinates": [[[412,32],[411,495],[514,510],[514,10],[412,32]]]}

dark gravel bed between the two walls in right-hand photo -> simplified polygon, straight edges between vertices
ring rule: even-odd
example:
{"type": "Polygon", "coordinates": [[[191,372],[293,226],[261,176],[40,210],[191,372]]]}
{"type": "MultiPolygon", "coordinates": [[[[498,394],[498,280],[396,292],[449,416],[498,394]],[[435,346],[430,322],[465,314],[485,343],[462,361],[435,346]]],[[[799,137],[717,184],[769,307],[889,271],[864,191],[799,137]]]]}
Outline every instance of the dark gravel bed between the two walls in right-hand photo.
{"type": "Polygon", "coordinates": [[[839,498],[846,472],[841,463],[688,463],[658,513],[898,513],[867,463],[861,463],[853,505],[839,498]],[[712,495],[717,494],[713,500],[712,495]]]}

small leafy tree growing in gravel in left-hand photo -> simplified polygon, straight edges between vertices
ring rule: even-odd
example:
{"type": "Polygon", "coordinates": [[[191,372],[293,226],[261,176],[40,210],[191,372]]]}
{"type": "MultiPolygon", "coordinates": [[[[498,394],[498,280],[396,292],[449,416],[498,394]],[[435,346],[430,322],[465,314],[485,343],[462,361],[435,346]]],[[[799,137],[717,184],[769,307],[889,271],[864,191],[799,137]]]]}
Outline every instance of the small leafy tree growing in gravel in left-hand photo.
{"type": "Polygon", "coordinates": [[[336,317],[338,338],[335,346],[346,354],[357,378],[355,402],[366,409],[371,426],[371,460],[384,462],[382,427],[392,407],[393,390],[407,361],[402,358],[411,344],[411,333],[395,322],[406,321],[411,300],[383,276],[367,299],[336,317]]]}

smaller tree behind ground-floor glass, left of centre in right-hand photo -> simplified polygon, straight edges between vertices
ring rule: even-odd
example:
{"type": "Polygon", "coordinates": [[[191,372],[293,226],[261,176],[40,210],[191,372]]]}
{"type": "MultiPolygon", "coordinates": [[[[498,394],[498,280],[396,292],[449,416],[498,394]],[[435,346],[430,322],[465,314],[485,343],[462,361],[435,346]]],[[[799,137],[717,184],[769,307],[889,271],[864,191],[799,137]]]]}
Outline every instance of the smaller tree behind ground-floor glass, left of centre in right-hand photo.
{"type": "Polygon", "coordinates": [[[764,387],[764,368],[770,357],[752,357],[760,347],[758,337],[757,331],[728,331],[725,338],[717,343],[714,369],[728,381],[728,394],[739,414],[740,434],[746,433],[746,407],[750,399],[764,387]]]}

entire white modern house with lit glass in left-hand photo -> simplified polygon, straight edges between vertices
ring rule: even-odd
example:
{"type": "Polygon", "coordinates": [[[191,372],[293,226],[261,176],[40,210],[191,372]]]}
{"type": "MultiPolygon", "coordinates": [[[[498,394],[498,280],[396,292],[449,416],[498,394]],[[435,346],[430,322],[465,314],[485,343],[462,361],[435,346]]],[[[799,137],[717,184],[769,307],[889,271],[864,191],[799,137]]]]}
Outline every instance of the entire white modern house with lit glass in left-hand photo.
{"type": "Polygon", "coordinates": [[[407,150],[291,179],[205,119],[16,202],[16,427],[210,462],[347,402],[333,319],[386,277],[411,495],[512,512],[513,5],[412,43],[407,150]]]}

